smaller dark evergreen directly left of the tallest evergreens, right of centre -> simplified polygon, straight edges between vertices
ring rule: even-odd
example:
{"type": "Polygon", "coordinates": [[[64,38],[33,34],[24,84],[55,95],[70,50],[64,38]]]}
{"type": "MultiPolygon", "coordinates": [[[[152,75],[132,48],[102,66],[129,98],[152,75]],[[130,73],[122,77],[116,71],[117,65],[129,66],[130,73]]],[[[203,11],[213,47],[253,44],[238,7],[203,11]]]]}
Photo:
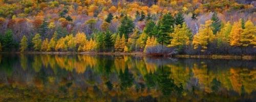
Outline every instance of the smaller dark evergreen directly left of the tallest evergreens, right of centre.
{"type": "Polygon", "coordinates": [[[156,24],[154,21],[148,20],[143,32],[146,33],[147,36],[150,36],[150,37],[155,36],[156,33],[153,30],[155,28],[155,26],[156,26],[156,24]]]}

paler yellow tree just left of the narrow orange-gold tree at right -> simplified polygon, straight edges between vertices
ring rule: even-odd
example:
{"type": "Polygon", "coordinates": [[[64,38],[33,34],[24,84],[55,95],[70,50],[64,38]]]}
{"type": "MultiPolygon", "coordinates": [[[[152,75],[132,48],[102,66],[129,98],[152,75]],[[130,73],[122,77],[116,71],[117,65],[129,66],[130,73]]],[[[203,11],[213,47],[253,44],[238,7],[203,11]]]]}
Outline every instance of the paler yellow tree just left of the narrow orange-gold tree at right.
{"type": "Polygon", "coordinates": [[[220,32],[217,33],[217,43],[218,43],[218,46],[221,44],[221,43],[228,43],[229,41],[229,34],[231,32],[231,29],[232,29],[232,25],[230,24],[230,22],[228,21],[224,27],[221,29],[220,32]]]}

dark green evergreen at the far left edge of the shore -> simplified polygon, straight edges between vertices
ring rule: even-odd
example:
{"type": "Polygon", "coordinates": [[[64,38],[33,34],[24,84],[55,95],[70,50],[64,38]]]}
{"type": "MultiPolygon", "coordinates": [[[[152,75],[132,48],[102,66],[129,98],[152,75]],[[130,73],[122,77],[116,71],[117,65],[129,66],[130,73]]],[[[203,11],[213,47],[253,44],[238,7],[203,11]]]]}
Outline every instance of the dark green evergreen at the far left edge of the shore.
{"type": "Polygon", "coordinates": [[[11,50],[14,47],[13,34],[11,30],[7,30],[3,38],[4,50],[11,50]]]}

